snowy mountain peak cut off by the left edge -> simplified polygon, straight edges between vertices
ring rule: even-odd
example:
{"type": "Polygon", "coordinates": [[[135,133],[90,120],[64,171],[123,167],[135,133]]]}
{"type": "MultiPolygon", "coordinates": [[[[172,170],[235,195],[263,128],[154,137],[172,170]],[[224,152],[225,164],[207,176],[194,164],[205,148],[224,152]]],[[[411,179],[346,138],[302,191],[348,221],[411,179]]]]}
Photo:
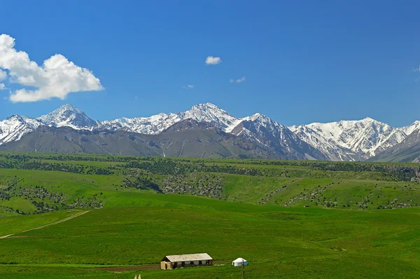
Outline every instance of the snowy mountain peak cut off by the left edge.
{"type": "Polygon", "coordinates": [[[0,121],[0,144],[20,140],[29,132],[34,132],[40,125],[43,125],[43,123],[34,118],[18,115],[10,116],[0,121]]]}

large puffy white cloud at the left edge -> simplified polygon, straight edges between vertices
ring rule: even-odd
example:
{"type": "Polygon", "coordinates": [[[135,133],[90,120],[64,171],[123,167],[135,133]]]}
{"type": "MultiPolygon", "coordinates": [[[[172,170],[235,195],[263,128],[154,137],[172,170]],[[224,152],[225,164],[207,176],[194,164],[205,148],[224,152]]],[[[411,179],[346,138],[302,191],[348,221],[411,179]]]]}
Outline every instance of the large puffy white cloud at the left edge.
{"type": "Polygon", "coordinates": [[[11,83],[36,89],[15,90],[10,94],[12,102],[65,99],[69,93],[104,89],[89,69],[69,62],[63,55],[52,55],[40,66],[31,61],[27,53],[14,47],[14,38],[0,35],[0,68],[8,69],[11,83]]]}

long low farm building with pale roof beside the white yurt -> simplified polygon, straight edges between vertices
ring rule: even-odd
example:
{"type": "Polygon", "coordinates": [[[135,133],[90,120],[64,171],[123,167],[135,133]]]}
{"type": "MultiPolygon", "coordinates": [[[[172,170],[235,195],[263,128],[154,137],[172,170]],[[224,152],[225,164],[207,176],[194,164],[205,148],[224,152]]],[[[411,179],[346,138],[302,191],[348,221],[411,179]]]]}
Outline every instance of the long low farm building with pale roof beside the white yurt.
{"type": "Polygon", "coordinates": [[[213,259],[207,253],[202,254],[179,254],[166,256],[160,261],[160,268],[174,269],[191,266],[212,266],[213,259]]]}

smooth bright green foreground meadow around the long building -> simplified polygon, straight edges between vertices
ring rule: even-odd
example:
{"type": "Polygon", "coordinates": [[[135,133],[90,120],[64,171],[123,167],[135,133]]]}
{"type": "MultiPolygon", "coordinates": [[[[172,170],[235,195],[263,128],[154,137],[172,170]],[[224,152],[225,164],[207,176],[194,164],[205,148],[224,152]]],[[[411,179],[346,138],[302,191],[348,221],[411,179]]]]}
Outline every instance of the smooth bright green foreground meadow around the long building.
{"type": "MultiPolygon", "coordinates": [[[[50,267],[52,277],[57,276],[57,265],[78,265],[73,273],[81,272],[80,265],[158,264],[166,254],[195,252],[208,252],[216,261],[244,257],[252,263],[247,267],[251,278],[287,274],[296,278],[395,278],[401,272],[405,278],[415,278],[420,271],[420,224],[412,224],[420,217],[418,209],[323,210],[171,197],[171,206],[92,210],[55,226],[22,233],[36,237],[3,239],[1,259],[20,265],[55,264],[50,267]]],[[[155,203],[163,205],[162,200],[155,203]]],[[[3,267],[10,274],[18,268],[3,267]]],[[[38,270],[36,266],[26,268],[38,270]]],[[[85,271],[85,275],[102,275],[90,268],[85,271]]],[[[138,273],[146,278],[239,275],[230,266],[138,273]]]]}

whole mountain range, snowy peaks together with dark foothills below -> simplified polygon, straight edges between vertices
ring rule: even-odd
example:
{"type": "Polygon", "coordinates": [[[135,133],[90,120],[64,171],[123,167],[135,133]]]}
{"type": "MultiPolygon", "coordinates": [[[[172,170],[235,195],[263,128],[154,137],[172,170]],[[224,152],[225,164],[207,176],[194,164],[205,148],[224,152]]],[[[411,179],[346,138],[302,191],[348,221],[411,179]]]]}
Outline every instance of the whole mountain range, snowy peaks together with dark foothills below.
{"type": "Polygon", "coordinates": [[[286,127],[263,114],[236,118],[214,104],[176,114],[94,121],[65,104],[38,118],[0,121],[0,149],[198,158],[420,162],[420,121],[372,118],[286,127]]]}

